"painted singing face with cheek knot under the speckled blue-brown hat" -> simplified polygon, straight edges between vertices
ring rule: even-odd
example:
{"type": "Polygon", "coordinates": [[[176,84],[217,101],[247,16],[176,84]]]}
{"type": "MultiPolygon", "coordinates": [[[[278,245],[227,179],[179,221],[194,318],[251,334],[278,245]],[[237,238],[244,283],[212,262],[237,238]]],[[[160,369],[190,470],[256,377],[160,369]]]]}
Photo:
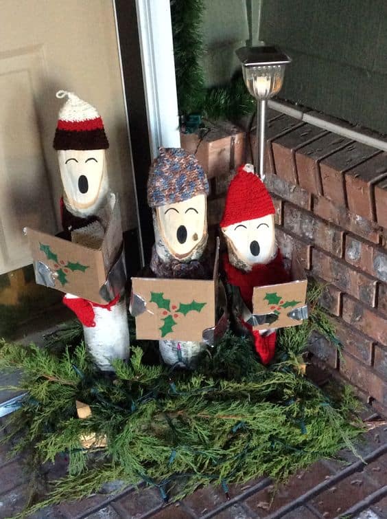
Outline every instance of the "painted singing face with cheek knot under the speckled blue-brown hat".
{"type": "Polygon", "coordinates": [[[163,242],[172,256],[183,259],[207,234],[207,198],[196,195],[183,202],[156,208],[163,242]]]}

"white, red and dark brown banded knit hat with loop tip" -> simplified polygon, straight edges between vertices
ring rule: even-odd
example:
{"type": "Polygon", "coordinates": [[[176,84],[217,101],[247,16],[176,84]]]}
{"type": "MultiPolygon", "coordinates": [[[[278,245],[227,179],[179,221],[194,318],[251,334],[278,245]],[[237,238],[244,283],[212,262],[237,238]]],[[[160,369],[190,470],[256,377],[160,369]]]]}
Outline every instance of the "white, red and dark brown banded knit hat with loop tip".
{"type": "Polygon", "coordinates": [[[54,137],[56,150],[104,150],[109,147],[104,123],[97,110],[73,92],[60,90],[58,99],[67,101],[58,114],[54,137]]]}

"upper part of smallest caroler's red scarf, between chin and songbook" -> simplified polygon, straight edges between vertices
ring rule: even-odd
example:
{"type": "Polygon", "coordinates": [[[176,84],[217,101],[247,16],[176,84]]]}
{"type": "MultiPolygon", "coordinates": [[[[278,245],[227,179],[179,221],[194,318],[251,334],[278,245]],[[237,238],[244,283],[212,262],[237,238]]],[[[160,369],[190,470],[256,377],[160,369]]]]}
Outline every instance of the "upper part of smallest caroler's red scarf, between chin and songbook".
{"type": "Polygon", "coordinates": [[[287,283],[289,274],[283,266],[281,251],[277,251],[277,256],[267,263],[267,265],[255,265],[250,272],[244,272],[231,265],[227,254],[223,256],[223,268],[230,285],[239,287],[242,299],[250,311],[253,310],[251,300],[253,298],[254,287],[263,285],[276,285],[277,283],[287,283]]]}

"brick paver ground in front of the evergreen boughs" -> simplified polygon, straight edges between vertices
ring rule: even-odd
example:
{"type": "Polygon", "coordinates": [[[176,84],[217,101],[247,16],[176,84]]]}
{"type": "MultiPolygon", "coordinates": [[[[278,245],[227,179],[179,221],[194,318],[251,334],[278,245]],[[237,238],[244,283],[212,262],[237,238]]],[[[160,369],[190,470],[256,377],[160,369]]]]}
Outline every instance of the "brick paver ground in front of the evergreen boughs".
{"type": "MultiPolygon", "coordinates": [[[[227,500],[219,487],[198,489],[178,503],[165,504],[159,492],[140,485],[111,494],[115,484],[101,493],[74,503],[63,503],[40,511],[31,519],[387,519],[387,424],[368,412],[368,431],[358,444],[364,462],[350,451],[340,452],[342,463],[321,460],[274,485],[260,478],[245,485],[230,485],[227,500]],[[372,421],[370,421],[370,418],[372,421]],[[379,423],[379,425],[378,425],[379,423]]],[[[0,448],[0,518],[12,517],[27,500],[28,474],[21,461],[9,461],[7,448],[0,448]]],[[[66,470],[65,461],[47,465],[45,476],[57,478],[66,470]]],[[[119,488],[119,482],[116,483],[119,488]]]]}

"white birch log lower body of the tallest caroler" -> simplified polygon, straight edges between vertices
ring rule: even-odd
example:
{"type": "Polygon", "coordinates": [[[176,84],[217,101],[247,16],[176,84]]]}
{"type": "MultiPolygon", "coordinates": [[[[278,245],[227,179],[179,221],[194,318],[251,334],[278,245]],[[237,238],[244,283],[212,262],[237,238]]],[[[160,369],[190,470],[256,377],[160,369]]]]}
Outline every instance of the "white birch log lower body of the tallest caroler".
{"type": "Polygon", "coordinates": [[[102,371],[113,371],[110,362],[129,357],[129,329],[125,298],[106,309],[94,307],[95,326],[83,327],[86,347],[102,371]]]}

